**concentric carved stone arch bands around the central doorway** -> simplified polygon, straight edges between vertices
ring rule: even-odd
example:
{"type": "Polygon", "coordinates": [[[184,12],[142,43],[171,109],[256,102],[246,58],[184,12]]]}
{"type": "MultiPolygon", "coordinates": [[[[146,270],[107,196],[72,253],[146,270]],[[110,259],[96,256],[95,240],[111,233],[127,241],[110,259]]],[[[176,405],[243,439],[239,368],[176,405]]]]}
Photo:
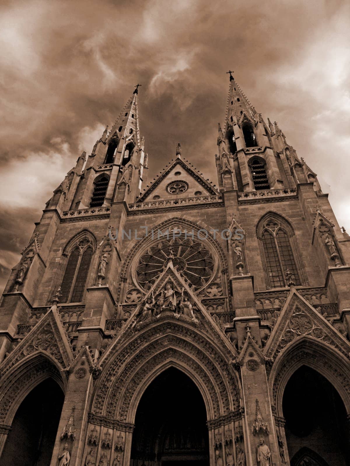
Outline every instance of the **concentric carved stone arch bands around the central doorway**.
{"type": "Polygon", "coordinates": [[[233,368],[215,344],[185,324],[154,323],[129,342],[113,347],[111,358],[102,364],[92,407],[96,415],[133,422],[142,392],[158,373],[171,365],[183,370],[197,384],[208,418],[239,408],[233,368]]]}

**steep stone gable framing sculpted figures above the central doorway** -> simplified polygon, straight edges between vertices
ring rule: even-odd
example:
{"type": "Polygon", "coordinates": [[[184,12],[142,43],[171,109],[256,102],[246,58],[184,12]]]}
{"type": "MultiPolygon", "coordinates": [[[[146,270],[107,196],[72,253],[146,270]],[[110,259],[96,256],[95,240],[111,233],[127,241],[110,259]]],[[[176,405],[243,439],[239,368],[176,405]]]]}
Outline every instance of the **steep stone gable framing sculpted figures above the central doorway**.
{"type": "Polygon", "coordinates": [[[165,267],[162,274],[159,276],[158,280],[154,283],[152,288],[149,289],[147,295],[144,299],[140,302],[137,308],[134,310],[133,314],[129,317],[129,319],[125,322],[124,326],[120,329],[119,334],[114,339],[113,343],[109,346],[109,348],[105,351],[101,359],[99,360],[99,364],[102,366],[105,364],[106,360],[109,356],[114,352],[115,347],[119,346],[120,340],[126,338],[127,336],[132,335],[134,332],[142,330],[145,327],[152,325],[154,322],[161,322],[162,320],[168,319],[170,317],[174,317],[179,322],[191,322],[194,325],[200,325],[204,327],[206,333],[210,335],[215,335],[216,338],[219,338],[221,342],[224,344],[225,348],[231,353],[232,356],[236,356],[236,350],[232,347],[229,340],[224,336],[220,326],[211,318],[209,312],[203,306],[203,304],[198,300],[196,295],[193,293],[192,289],[189,288],[186,279],[179,273],[176,268],[173,266],[172,260],[168,261],[167,266],[165,267]],[[142,322],[140,318],[141,314],[141,307],[144,306],[144,303],[147,299],[154,296],[154,298],[161,293],[161,290],[164,289],[166,283],[171,282],[173,285],[173,289],[177,291],[177,293],[183,291],[189,295],[189,301],[191,302],[192,306],[196,309],[195,310],[195,319],[190,319],[185,315],[176,315],[173,312],[162,311],[161,314],[154,316],[148,319],[145,322],[142,322]]]}

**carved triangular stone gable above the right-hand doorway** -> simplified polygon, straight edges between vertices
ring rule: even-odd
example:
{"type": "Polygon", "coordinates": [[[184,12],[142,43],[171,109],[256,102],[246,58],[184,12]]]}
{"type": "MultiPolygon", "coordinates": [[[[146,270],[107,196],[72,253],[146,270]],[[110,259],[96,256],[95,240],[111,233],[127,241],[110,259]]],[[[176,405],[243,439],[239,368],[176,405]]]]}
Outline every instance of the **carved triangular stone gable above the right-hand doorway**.
{"type": "Polygon", "coordinates": [[[350,343],[293,287],[267,340],[264,354],[275,359],[288,343],[305,336],[329,343],[346,357],[350,353],[350,343]]]}

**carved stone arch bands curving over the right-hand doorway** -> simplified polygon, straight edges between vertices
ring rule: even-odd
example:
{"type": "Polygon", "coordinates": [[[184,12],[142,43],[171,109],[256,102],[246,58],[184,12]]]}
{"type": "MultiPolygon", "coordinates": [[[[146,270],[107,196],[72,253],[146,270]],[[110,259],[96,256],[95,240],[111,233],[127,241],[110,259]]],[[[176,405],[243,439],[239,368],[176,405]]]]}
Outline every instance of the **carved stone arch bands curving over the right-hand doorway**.
{"type": "Polygon", "coordinates": [[[347,413],[350,413],[349,361],[329,345],[309,336],[301,336],[277,356],[270,373],[269,391],[277,416],[283,416],[282,398],[287,382],[302,365],[309,366],[326,377],[338,391],[347,413]]]}

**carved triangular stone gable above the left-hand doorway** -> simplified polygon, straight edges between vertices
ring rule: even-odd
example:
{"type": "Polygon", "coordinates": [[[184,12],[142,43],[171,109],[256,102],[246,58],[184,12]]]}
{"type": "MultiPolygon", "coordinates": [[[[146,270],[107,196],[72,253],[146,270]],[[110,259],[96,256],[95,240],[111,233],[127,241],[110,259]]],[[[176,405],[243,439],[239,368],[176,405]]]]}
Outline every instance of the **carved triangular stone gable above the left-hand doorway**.
{"type": "Polygon", "coordinates": [[[47,353],[62,370],[68,369],[74,356],[56,306],[42,317],[0,366],[3,376],[16,363],[35,352],[47,353]]]}

